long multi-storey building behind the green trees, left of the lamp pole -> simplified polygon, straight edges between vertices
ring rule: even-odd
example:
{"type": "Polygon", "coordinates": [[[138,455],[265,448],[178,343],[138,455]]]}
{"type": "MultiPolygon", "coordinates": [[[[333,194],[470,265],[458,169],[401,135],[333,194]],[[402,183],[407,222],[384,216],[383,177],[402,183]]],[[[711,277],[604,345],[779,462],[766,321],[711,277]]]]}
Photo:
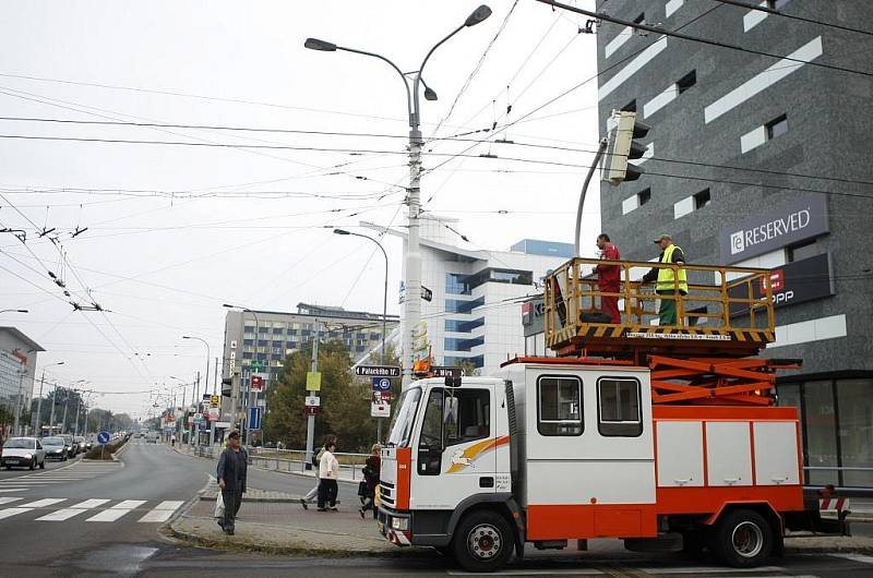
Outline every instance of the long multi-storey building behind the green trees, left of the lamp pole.
{"type": "MultiPolygon", "coordinates": [[[[387,316],[387,333],[397,327],[398,317],[387,316]]],[[[252,373],[266,375],[267,386],[276,381],[285,358],[320,341],[338,339],[359,362],[382,350],[382,314],[346,311],[343,308],[298,303],[297,313],[278,311],[228,311],[225,317],[223,375],[240,368],[242,383],[252,373]],[[256,371],[252,371],[256,369],[256,371]]]]}

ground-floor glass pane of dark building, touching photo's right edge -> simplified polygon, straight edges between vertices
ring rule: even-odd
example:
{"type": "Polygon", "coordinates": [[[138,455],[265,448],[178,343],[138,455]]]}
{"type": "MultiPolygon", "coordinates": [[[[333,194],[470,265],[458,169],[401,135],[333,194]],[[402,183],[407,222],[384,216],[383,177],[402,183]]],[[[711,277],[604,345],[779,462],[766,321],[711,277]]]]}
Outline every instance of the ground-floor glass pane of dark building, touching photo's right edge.
{"type": "MultiPolygon", "coordinates": [[[[837,382],[839,448],[844,468],[869,468],[873,463],[873,380],[837,382]]],[[[842,472],[845,486],[873,487],[873,471],[842,472]]]]}

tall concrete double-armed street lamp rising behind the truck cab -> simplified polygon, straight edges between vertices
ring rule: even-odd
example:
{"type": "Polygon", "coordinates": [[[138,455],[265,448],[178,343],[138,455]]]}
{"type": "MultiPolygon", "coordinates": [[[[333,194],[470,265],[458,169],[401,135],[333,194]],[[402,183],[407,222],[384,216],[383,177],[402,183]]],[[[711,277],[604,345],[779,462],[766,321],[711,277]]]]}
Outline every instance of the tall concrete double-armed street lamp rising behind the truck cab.
{"type": "MultiPolygon", "coordinates": [[[[307,38],[303,46],[310,50],[318,50],[321,52],[335,52],[343,50],[345,52],[354,52],[356,55],[363,55],[368,57],[378,58],[393,68],[403,80],[404,87],[406,88],[406,110],[409,116],[409,189],[406,197],[406,204],[409,207],[408,218],[408,240],[406,245],[406,300],[404,301],[404,332],[403,332],[403,387],[408,387],[412,381],[412,362],[415,356],[412,353],[412,341],[415,334],[418,329],[418,324],[421,321],[421,255],[419,254],[419,213],[421,209],[421,190],[419,188],[421,181],[421,131],[419,130],[420,115],[419,115],[419,84],[424,84],[421,79],[424,65],[428,59],[436,48],[443,43],[449,40],[452,36],[464,29],[485,21],[491,15],[491,9],[482,4],[473,13],[467,16],[464,24],[452,31],[445,38],[436,43],[433,48],[428,51],[424,60],[418,71],[410,74],[414,76],[412,86],[409,86],[409,79],[400,71],[397,65],[387,58],[373,52],[364,50],[357,50],[344,46],[337,46],[326,40],[318,38],[307,38]]],[[[431,91],[424,85],[424,98],[428,100],[435,100],[436,93],[431,91]]]]}

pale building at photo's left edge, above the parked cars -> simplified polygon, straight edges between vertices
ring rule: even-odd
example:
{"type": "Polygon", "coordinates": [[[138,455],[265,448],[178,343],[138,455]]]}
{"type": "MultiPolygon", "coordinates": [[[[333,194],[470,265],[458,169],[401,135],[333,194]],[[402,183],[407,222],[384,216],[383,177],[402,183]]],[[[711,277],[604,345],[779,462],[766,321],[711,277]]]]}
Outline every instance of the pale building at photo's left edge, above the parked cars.
{"type": "Polygon", "coordinates": [[[29,407],[39,351],[45,349],[15,327],[0,327],[0,405],[12,413],[16,401],[29,407]]]}

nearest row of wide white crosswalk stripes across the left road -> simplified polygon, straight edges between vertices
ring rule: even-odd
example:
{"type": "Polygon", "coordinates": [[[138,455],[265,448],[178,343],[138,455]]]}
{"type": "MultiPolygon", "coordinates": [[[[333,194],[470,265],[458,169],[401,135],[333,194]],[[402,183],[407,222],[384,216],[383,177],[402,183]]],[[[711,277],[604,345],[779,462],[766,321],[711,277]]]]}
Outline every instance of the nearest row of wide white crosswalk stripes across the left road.
{"type": "Polygon", "coordinates": [[[23,519],[26,518],[26,516],[23,516],[24,514],[33,513],[32,516],[37,516],[35,521],[58,522],[73,518],[82,519],[84,516],[89,515],[91,517],[85,518],[84,521],[115,522],[127,519],[142,523],[160,523],[169,520],[184,503],[177,499],[165,499],[144,508],[142,506],[147,504],[148,501],[146,499],[121,499],[113,505],[109,505],[113,502],[110,498],[88,498],[65,507],[59,507],[62,505],[61,503],[67,501],[68,498],[65,497],[47,497],[25,502],[25,498],[17,496],[2,496],[0,497],[0,521],[13,517],[23,519]],[[7,505],[9,507],[3,507],[7,505]],[[58,506],[58,509],[52,509],[52,506],[58,506]],[[46,511],[46,509],[51,509],[51,511],[46,511]],[[140,517],[136,518],[134,514],[140,517]]]}

